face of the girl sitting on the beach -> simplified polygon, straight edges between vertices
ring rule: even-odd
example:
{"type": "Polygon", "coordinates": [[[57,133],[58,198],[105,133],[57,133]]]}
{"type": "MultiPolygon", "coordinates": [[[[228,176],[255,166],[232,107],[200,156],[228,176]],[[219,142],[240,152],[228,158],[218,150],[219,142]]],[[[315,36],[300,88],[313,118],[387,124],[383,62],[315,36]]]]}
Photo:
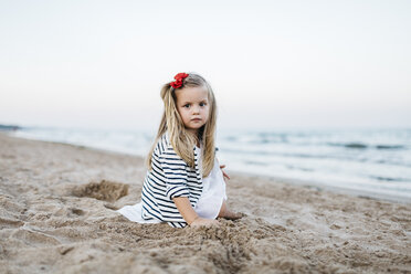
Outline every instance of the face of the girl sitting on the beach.
{"type": "Polygon", "coordinates": [[[209,118],[209,94],[203,86],[183,87],[176,92],[177,110],[186,128],[197,134],[209,118]]]}

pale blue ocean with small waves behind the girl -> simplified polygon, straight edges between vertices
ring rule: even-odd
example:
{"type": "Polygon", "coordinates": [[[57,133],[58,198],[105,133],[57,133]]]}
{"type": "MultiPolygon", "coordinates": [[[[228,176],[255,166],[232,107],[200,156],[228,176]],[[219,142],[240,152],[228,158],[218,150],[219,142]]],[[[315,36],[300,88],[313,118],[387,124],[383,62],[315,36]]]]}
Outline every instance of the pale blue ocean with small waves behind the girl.
{"type": "MultiPolygon", "coordinates": [[[[145,157],[155,133],[23,127],[11,135],[145,157]]],[[[217,147],[226,172],[411,201],[411,128],[230,130],[218,133],[217,147]]]]}

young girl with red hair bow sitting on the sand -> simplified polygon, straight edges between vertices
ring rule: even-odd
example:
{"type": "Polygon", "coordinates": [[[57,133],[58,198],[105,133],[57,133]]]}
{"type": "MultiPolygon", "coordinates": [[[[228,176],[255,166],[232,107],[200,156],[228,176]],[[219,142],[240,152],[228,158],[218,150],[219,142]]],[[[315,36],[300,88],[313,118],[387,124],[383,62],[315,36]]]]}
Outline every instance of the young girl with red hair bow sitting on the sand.
{"type": "Polygon", "coordinates": [[[165,112],[148,155],[141,202],[117,212],[139,223],[173,228],[214,225],[215,218],[236,220],[228,210],[224,178],[215,158],[217,105],[207,81],[179,73],[161,88],[165,112]]]}

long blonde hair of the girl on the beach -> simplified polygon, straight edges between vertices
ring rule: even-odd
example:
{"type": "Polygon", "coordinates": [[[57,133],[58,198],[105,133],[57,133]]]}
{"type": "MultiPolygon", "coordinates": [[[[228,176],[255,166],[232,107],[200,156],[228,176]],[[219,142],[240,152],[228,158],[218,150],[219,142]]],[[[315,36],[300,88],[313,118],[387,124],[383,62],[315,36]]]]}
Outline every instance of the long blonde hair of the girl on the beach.
{"type": "Polygon", "coordinates": [[[176,154],[183,159],[188,166],[194,168],[194,151],[193,147],[197,144],[197,139],[202,141],[202,175],[203,177],[209,176],[213,166],[215,157],[214,135],[215,135],[215,120],[217,120],[217,104],[214,93],[210,84],[199,74],[188,73],[189,76],[182,81],[182,86],[173,88],[170,83],[162,86],[160,95],[165,104],[165,112],[160,122],[160,126],[157,131],[155,143],[147,156],[147,166],[151,169],[151,157],[156,148],[157,141],[160,139],[162,134],[168,131],[170,143],[176,154]],[[176,106],[176,89],[183,87],[197,87],[203,86],[208,91],[209,99],[209,118],[207,123],[198,130],[197,139],[186,129],[185,124],[177,110],[176,106]]]}

